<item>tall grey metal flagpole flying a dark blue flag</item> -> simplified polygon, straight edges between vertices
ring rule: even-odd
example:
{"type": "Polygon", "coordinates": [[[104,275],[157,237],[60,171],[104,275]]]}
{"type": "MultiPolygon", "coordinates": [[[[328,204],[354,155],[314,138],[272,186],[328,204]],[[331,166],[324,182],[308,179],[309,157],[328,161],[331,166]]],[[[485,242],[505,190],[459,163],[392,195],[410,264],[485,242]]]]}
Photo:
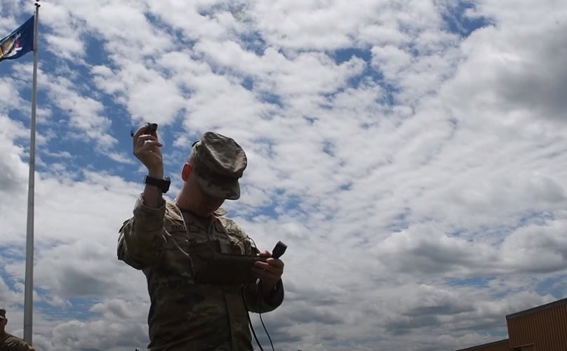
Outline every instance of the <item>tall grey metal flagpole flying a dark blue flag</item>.
{"type": "Polygon", "coordinates": [[[35,2],[34,17],[34,83],[32,88],[32,123],[29,138],[29,178],[27,190],[27,234],[25,258],[24,293],[24,340],[32,345],[34,316],[34,180],[35,180],[35,136],[36,136],[36,95],[37,95],[37,31],[39,28],[39,0],[35,2]]]}

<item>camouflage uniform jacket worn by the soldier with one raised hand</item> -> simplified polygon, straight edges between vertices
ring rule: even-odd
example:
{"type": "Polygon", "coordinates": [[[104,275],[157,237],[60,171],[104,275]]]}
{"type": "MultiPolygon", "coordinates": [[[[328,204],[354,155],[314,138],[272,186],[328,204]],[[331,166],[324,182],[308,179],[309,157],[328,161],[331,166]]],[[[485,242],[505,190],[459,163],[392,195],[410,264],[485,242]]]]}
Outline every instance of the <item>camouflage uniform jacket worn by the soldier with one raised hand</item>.
{"type": "Polygon", "coordinates": [[[253,350],[246,307],[251,312],[269,312],[284,300],[281,281],[267,300],[255,284],[195,282],[207,250],[258,253],[225,214],[221,208],[204,223],[180,211],[173,201],[163,200],[159,208],[149,208],[140,196],[133,217],[122,225],[118,258],[142,270],[147,279],[149,350],[253,350]]]}

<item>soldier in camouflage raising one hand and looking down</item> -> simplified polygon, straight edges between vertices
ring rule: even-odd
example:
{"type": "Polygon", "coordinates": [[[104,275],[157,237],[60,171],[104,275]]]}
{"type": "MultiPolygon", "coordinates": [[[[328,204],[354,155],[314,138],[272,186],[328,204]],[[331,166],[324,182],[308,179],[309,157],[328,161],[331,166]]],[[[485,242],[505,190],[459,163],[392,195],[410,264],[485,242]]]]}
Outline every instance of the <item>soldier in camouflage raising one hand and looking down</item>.
{"type": "Polygon", "coordinates": [[[118,258],[147,279],[150,351],[253,350],[248,310],[269,312],[284,300],[284,263],[261,253],[220,208],[239,199],[246,153],[232,138],[207,132],[182,166],[175,201],[162,197],[170,180],[157,134],[141,126],[133,134],[135,156],[147,167],[145,188],[133,217],[119,230],[118,258]],[[265,257],[251,268],[251,284],[202,284],[196,272],[208,250],[265,257]]]}

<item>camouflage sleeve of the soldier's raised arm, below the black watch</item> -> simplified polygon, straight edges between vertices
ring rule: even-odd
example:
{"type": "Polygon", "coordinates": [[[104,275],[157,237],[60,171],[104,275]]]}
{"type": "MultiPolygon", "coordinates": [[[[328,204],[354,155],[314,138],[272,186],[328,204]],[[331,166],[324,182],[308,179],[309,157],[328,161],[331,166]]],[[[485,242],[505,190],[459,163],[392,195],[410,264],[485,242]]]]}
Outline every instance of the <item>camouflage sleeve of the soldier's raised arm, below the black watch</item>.
{"type": "Polygon", "coordinates": [[[134,216],[119,230],[118,259],[137,270],[155,263],[163,251],[166,201],[162,201],[159,208],[149,208],[140,194],[134,206],[134,216]]]}

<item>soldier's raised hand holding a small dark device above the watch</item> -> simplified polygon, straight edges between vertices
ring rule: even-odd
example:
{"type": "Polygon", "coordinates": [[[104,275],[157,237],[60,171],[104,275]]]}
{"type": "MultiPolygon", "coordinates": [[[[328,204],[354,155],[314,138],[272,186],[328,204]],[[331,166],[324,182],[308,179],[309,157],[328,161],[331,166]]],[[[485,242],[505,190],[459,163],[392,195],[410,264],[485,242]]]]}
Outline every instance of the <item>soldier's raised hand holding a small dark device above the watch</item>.
{"type": "Polygon", "coordinates": [[[133,135],[133,152],[149,171],[149,176],[161,178],[164,173],[164,159],[160,148],[163,146],[156,135],[149,134],[148,126],[138,128],[133,135]]]}

